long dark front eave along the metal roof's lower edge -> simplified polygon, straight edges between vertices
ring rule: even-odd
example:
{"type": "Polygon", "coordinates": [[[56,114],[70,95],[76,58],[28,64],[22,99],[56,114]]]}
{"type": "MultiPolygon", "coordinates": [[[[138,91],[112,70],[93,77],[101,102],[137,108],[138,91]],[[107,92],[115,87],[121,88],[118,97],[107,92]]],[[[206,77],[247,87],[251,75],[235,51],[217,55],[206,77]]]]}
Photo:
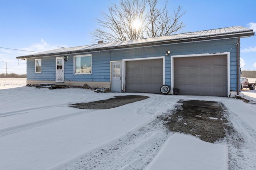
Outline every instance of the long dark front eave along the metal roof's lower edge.
{"type": "Polygon", "coordinates": [[[76,54],[76,53],[88,53],[88,52],[94,52],[94,51],[108,51],[108,50],[123,49],[123,48],[146,47],[146,46],[152,46],[152,45],[184,43],[184,42],[192,42],[192,41],[205,41],[205,40],[213,40],[213,39],[250,37],[253,35],[254,35],[253,31],[247,31],[247,32],[232,33],[232,34],[210,35],[210,36],[205,36],[205,37],[199,36],[199,37],[193,37],[193,38],[190,37],[190,38],[186,38],[186,39],[172,39],[172,40],[166,40],[166,41],[153,41],[153,42],[145,42],[145,43],[138,43],[138,44],[131,44],[131,45],[120,45],[120,46],[115,46],[115,47],[104,47],[104,48],[77,50],[77,51],[70,51],[70,52],[47,53],[47,54],[42,54],[42,55],[27,55],[27,56],[20,56],[20,57],[16,57],[16,58],[25,60],[25,59],[29,59],[29,58],[35,58],[35,57],[68,55],[68,54],[76,54]]]}

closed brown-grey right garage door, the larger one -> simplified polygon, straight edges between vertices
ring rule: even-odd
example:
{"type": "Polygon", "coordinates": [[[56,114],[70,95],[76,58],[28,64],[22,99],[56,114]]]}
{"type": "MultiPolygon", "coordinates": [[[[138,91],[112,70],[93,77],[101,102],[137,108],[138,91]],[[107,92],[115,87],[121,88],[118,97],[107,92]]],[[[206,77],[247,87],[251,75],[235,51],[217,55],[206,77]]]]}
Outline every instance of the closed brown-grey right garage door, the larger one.
{"type": "Polygon", "coordinates": [[[227,96],[227,56],[174,58],[174,88],[182,95],[227,96]]]}

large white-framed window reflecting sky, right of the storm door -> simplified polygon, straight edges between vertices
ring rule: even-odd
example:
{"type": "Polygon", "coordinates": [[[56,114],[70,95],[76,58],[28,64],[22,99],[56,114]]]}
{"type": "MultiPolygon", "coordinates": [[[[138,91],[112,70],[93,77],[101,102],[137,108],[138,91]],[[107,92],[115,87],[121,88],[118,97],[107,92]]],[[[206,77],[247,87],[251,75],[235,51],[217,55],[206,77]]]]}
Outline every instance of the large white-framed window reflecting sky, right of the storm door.
{"type": "Polygon", "coordinates": [[[92,74],[92,55],[74,56],[74,74],[92,74]]]}

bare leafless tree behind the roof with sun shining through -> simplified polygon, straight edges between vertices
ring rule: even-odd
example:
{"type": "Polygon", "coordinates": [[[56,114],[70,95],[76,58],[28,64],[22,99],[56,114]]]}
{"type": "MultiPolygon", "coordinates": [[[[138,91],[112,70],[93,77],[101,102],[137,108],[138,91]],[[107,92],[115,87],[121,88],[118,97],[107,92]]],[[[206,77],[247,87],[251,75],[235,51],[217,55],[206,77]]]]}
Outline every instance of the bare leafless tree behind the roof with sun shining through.
{"type": "Polygon", "coordinates": [[[185,12],[179,6],[169,15],[166,6],[167,2],[158,8],[158,0],[121,0],[96,20],[102,28],[91,34],[94,40],[106,42],[170,35],[185,26],[179,21],[185,12]]]}

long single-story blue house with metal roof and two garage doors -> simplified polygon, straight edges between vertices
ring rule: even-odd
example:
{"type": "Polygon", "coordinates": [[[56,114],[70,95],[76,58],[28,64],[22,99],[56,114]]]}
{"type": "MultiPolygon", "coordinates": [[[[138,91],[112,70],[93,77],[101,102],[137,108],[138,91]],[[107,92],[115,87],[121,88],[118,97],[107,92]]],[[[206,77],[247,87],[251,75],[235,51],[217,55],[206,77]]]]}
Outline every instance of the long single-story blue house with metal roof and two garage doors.
{"type": "Polygon", "coordinates": [[[242,26],[54,49],[27,60],[27,84],[109,87],[112,92],[234,97],[240,91],[242,26]]]}

